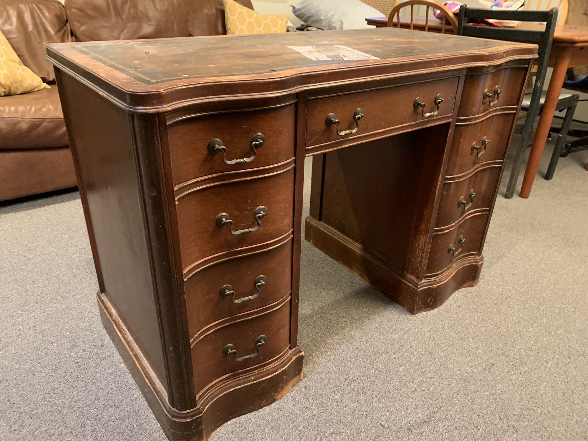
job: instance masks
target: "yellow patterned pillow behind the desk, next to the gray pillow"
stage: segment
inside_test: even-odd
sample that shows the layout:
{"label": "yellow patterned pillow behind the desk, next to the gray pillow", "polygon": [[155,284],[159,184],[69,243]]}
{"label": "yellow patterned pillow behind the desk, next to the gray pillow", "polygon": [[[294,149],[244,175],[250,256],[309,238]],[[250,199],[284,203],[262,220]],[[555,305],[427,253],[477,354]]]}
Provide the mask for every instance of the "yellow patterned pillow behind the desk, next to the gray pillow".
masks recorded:
{"label": "yellow patterned pillow behind the desk, next to the gray pillow", "polygon": [[288,15],[261,15],[233,0],[225,4],[226,35],[273,34],[286,32]]}

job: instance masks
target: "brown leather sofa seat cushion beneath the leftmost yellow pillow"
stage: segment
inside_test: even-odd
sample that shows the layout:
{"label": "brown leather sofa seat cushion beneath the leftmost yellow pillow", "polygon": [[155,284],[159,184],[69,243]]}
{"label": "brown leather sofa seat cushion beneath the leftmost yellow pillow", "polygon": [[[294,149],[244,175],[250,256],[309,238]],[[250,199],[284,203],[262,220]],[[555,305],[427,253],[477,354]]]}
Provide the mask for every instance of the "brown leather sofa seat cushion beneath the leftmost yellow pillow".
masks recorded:
{"label": "brown leather sofa seat cushion beneath the leftmost yellow pillow", "polygon": [[51,89],[0,98],[0,149],[69,145],[59,93]]}

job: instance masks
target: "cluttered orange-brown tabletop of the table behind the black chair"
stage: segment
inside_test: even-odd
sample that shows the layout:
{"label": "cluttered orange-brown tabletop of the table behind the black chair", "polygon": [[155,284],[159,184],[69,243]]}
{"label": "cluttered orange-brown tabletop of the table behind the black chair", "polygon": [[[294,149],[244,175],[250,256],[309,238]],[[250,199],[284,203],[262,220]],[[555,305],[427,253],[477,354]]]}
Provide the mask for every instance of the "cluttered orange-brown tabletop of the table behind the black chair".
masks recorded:
{"label": "cluttered orange-brown tabletop of the table behind the black chair", "polygon": [[[368,17],[366,22],[373,26],[386,26],[387,17]],[[400,22],[400,28],[407,28],[410,26],[409,22]],[[414,27],[416,29],[425,28],[425,17],[415,17]],[[532,31],[541,31],[545,28],[544,24],[541,23],[521,23],[517,26],[517,29],[528,29]],[[429,18],[429,29],[432,31],[441,30],[441,22],[436,18]],[[445,32],[450,34],[453,32],[450,26],[445,27]],[[555,28],[555,34],[553,40],[560,44],[574,44],[574,45],[588,45],[588,26],[579,25],[557,25]]]}

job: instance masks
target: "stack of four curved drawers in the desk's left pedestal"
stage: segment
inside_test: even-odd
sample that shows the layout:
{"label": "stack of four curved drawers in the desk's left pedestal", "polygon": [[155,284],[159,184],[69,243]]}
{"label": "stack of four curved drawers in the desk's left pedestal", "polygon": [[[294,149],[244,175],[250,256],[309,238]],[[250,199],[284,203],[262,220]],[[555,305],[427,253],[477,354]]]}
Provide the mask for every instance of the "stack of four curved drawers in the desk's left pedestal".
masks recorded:
{"label": "stack of four curved drawers in the desk's left pedestal", "polygon": [[289,349],[294,124],[294,104],[168,124],[197,399]]}

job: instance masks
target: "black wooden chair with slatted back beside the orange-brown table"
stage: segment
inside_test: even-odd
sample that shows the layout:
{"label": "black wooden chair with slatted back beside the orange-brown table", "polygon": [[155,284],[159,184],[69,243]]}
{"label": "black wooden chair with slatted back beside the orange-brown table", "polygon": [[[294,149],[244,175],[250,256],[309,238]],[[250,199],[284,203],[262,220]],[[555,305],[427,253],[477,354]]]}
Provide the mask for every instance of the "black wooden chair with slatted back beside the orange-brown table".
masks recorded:
{"label": "black wooden chair with slatted back beside the orange-brown table", "polygon": [[[479,25],[486,19],[515,20],[526,22],[544,22],[544,31],[530,31],[517,28],[499,28],[494,26]],[[468,8],[463,5],[459,10],[459,23],[457,35],[475,36],[479,38],[491,38],[495,40],[517,41],[523,43],[534,43],[539,45],[539,58],[537,59],[537,75],[533,86],[533,92],[523,99],[521,108],[527,112],[524,123],[517,126],[517,133],[520,133],[520,141],[516,146],[515,162],[510,172],[509,183],[506,188],[505,198],[510,199],[515,193],[516,183],[519,179],[520,168],[523,163],[524,151],[532,141],[533,123],[540,115],[545,93],[543,84],[547,73],[549,55],[553,44],[553,32],[557,24],[557,9],[549,11],[492,11],[491,9]],[[567,129],[572,123],[574,110],[578,102],[578,95],[562,93],[557,102],[557,111],[566,110],[562,129],[557,139],[556,149],[562,149],[565,143]],[[554,169],[554,167],[553,167]],[[553,170],[550,171],[553,176]],[[548,172],[549,173],[549,172]],[[547,178],[546,179],[550,179]]]}

